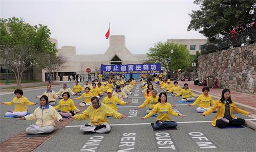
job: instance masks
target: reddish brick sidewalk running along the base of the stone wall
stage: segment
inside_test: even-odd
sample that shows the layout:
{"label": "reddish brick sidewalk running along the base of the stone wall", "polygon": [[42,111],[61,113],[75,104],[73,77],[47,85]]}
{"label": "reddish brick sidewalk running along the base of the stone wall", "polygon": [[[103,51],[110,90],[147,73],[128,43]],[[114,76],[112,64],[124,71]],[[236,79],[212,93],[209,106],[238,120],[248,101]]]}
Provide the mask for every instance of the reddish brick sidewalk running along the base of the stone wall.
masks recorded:
{"label": "reddish brick sidewalk running along the base of the stone wall", "polygon": [[[202,89],[204,86],[194,85],[194,81],[179,81],[179,85],[183,86],[184,83],[188,83],[188,88],[191,90],[195,90],[197,92],[202,93]],[[223,89],[211,89],[209,94],[211,96],[216,96],[221,98],[221,93]],[[231,92],[231,99],[234,102],[242,103],[248,106],[256,107],[256,95],[246,94],[246,93],[239,93],[236,91],[230,91]]]}

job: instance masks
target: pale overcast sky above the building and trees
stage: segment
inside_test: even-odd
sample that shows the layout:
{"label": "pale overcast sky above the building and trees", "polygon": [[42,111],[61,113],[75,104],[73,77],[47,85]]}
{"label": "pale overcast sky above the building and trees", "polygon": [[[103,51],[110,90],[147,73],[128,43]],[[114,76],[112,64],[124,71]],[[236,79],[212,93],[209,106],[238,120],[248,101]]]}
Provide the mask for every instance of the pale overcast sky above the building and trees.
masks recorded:
{"label": "pale overcast sky above the building and trees", "polygon": [[75,46],[76,54],[103,54],[109,48],[109,24],[110,35],[124,35],[133,54],[148,53],[167,39],[205,38],[187,31],[188,13],[198,9],[190,0],[0,0],[1,18],[22,17],[30,25],[47,25],[58,48]]}

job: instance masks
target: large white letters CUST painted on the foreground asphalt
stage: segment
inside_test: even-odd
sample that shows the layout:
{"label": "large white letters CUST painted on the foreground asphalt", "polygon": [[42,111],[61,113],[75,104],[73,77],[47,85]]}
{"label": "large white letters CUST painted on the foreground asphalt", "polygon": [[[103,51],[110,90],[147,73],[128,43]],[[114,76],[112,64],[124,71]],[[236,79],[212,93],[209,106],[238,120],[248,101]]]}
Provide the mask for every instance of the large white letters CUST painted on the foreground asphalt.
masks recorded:
{"label": "large white letters CUST painted on the foreground asphalt", "polygon": [[176,151],[176,147],[169,133],[156,133],[156,140],[159,151],[167,152],[167,151]]}

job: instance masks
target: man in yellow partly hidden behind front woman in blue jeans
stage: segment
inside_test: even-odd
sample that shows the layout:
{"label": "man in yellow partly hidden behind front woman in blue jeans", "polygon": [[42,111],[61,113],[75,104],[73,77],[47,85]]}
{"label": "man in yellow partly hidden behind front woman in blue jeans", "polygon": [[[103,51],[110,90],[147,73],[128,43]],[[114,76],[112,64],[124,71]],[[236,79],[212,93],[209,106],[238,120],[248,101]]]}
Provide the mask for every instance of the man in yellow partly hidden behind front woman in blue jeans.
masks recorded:
{"label": "man in yellow partly hidden behind front woman in blue jeans", "polygon": [[153,90],[152,91],[152,96],[148,97],[139,107],[137,107],[135,110],[139,110],[140,108],[145,107],[147,104],[150,104],[150,107],[148,108],[148,110],[146,110],[146,114],[149,114],[153,108],[155,107],[155,105],[158,103],[158,95],[157,95],[157,91]]}

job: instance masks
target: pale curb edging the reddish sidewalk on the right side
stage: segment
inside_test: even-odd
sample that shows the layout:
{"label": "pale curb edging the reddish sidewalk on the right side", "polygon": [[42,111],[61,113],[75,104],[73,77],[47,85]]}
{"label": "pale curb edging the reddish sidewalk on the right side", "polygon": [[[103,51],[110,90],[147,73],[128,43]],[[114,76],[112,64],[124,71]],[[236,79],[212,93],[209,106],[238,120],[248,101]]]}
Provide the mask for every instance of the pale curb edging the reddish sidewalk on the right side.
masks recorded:
{"label": "pale curb edging the reddish sidewalk on the right side", "polygon": [[[195,94],[202,94],[201,92],[197,91],[197,90],[193,90],[193,89],[190,89],[193,93]],[[214,100],[217,100],[219,99],[220,97],[217,97],[217,96],[213,96],[211,95],[212,99]],[[252,106],[249,106],[249,105],[246,105],[246,104],[243,104],[243,103],[239,103],[239,102],[236,102],[236,105],[241,108],[242,110],[245,110],[245,111],[250,111],[250,112],[253,112],[254,114],[256,113],[256,108],[255,107],[252,107]],[[254,129],[254,131],[256,131],[256,122],[253,122],[253,121],[250,121],[250,120],[246,120],[246,123],[245,123],[245,126],[249,127],[249,128],[252,128]]]}

